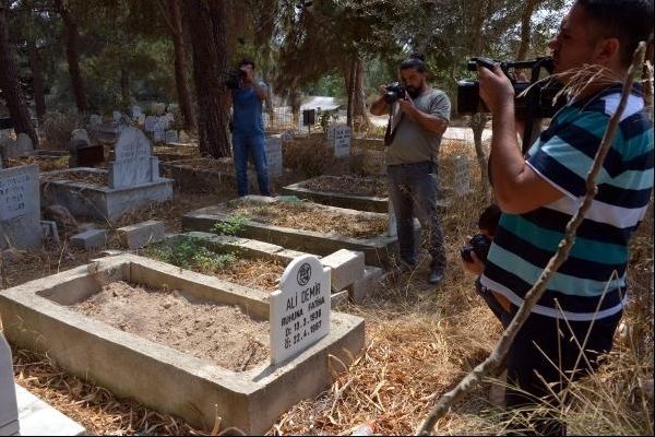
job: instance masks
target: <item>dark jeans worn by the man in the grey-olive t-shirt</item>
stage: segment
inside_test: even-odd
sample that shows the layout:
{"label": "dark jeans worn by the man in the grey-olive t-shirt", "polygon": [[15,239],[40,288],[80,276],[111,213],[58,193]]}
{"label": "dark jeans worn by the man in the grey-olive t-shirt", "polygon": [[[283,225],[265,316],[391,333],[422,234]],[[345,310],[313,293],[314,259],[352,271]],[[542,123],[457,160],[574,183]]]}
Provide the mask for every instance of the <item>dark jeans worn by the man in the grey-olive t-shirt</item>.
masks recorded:
{"label": "dark jeans worn by the man in the grey-olive t-shirt", "polygon": [[418,253],[414,241],[414,216],[427,237],[427,248],[432,257],[430,268],[441,273],[445,271],[445,249],[443,228],[437,215],[437,180],[432,177],[432,163],[390,165],[389,196],[396,216],[401,258],[416,264]]}

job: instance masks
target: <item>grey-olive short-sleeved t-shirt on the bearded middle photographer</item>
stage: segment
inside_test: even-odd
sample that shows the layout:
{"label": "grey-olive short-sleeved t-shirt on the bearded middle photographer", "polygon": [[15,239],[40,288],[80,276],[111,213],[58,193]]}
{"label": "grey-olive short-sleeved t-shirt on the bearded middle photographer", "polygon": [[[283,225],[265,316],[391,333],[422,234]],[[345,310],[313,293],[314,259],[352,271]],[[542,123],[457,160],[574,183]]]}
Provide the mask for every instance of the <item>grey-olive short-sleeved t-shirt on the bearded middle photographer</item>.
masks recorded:
{"label": "grey-olive short-sleeved t-shirt on the bearded middle photographer", "polygon": [[[400,116],[397,104],[393,105]],[[437,116],[450,121],[450,99],[441,90],[432,88],[414,99],[414,106],[422,113]],[[395,137],[386,147],[386,165],[420,163],[430,161],[437,163],[441,135],[430,133],[409,116],[403,115],[395,127]]]}

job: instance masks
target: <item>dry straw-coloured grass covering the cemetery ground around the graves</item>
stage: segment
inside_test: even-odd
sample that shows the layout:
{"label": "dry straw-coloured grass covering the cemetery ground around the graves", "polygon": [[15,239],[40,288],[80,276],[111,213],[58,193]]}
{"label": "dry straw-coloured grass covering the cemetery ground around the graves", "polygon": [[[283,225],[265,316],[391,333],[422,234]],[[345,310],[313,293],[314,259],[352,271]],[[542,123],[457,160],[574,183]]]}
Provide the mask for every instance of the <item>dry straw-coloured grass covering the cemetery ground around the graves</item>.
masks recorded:
{"label": "dry straw-coloured grass covering the cemetery ground around the graves", "polygon": [[[444,143],[439,174],[442,186],[452,186],[454,156],[462,154],[475,163],[472,144]],[[473,193],[455,199],[442,214],[449,259],[443,285],[434,288],[426,284],[429,257],[421,250],[420,263],[414,271],[400,276],[385,275],[376,292],[360,304],[341,304],[340,310],[366,320],[365,350],[352,363],[334,363],[332,386],[320,395],[303,400],[284,413],[267,434],[347,435],[365,423],[371,423],[376,434],[412,434],[439,397],[487,357],[500,336],[501,327],[476,295],[474,277],[464,272],[458,252],[460,247],[476,233],[478,213],[487,202],[480,194],[479,172],[475,165],[471,168]],[[281,186],[305,178],[305,175],[291,175],[278,182],[276,189],[278,191]],[[2,288],[85,264],[102,257],[103,250],[119,249],[120,243],[115,231],[120,226],[159,220],[165,222],[167,232],[179,233],[184,213],[234,197],[234,188],[219,187],[209,193],[182,196],[175,192],[172,201],[124,214],[111,225],[98,223],[102,227],[110,228],[107,247],[98,250],[83,251],[55,244],[47,244],[43,250],[34,252],[5,250],[0,260]],[[644,381],[647,378],[652,380],[653,376],[653,324],[650,312],[652,248],[651,211],[632,243],[629,272],[631,303],[617,334],[616,349],[593,378],[573,386],[573,402],[565,408],[570,434],[653,434],[653,398],[652,394],[648,398],[644,388]],[[139,250],[138,253],[153,256],[148,250],[152,249]],[[275,288],[276,282],[269,275],[274,271],[278,279],[279,265],[240,262],[247,268],[230,273],[217,269],[222,273],[216,274],[230,275],[234,282],[262,276],[257,287],[269,291]],[[120,299],[126,293],[124,285],[116,286],[121,288],[106,293]],[[176,296],[170,294],[166,299],[175,305]],[[151,305],[144,303],[135,306],[145,308]],[[178,320],[183,320],[184,327],[193,333],[198,315],[184,315],[178,314]],[[227,317],[234,319],[235,316]],[[200,320],[198,324],[202,322]],[[189,344],[184,344],[184,340],[174,341],[180,341],[184,347],[195,341],[189,339]],[[119,399],[93,381],[66,374],[47,354],[19,349],[12,352],[16,382],[81,423],[88,434],[217,435],[224,430],[221,412],[217,412],[214,429],[195,429],[180,418],[150,410],[129,399]],[[250,353],[234,353],[235,366],[247,367],[255,363],[262,353],[257,347],[252,356]],[[242,356],[246,358],[239,361]],[[501,433],[508,417],[500,414],[501,410],[490,401],[490,391],[489,382],[478,387],[438,422],[436,434]],[[558,405],[552,408],[559,409]]]}

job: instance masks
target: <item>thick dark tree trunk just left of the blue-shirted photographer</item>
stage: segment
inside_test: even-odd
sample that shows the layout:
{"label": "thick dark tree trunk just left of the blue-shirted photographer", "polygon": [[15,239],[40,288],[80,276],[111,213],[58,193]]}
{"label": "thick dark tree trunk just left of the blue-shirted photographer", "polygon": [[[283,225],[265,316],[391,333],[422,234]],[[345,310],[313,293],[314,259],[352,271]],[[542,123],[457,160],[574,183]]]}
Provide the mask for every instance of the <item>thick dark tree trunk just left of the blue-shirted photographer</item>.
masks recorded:
{"label": "thick dark tree trunk just left of the blue-shirted photographer", "polygon": [[216,158],[229,156],[226,109],[228,91],[221,79],[227,70],[225,3],[191,0],[184,2],[184,5],[193,46],[200,152]]}

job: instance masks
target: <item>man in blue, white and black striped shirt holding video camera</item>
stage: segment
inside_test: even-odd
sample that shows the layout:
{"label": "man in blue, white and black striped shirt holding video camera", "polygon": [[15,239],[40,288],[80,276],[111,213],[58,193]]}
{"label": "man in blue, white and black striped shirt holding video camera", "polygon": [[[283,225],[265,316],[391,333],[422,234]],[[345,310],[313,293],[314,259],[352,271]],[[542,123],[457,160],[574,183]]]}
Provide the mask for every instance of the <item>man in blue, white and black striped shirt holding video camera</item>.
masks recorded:
{"label": "man in blue, white and black striped shirt holding video camera", "polygon": [[[632,54],[653,32],[652,17],[653,0],[573,4],[550,42],[556,76],[571,84],[574,72],[588,66],[603,68],[604,74],[583,85],[558,111],[526,157],[516,139],[510,81],[498,67],[479,69],[480,97],[493,117],[493,190],[503,212],[480,282],[512,315],[582,203],[587,173],[617,109]],[[598,355],[611,349],[628,299],[628,241],[644,217],[653,186],[653,126],[639,88],[628,99],[596,184],[598,192],[569,258],[547,284],[508,355],[508,382],[524,391],[508,389],[508,406],[529,404],[550,390],[557,393],[567,380],[595,369]],[[574,369],[577,375],[572,375]],[[549,389],[544,381],[556,386]]]}

